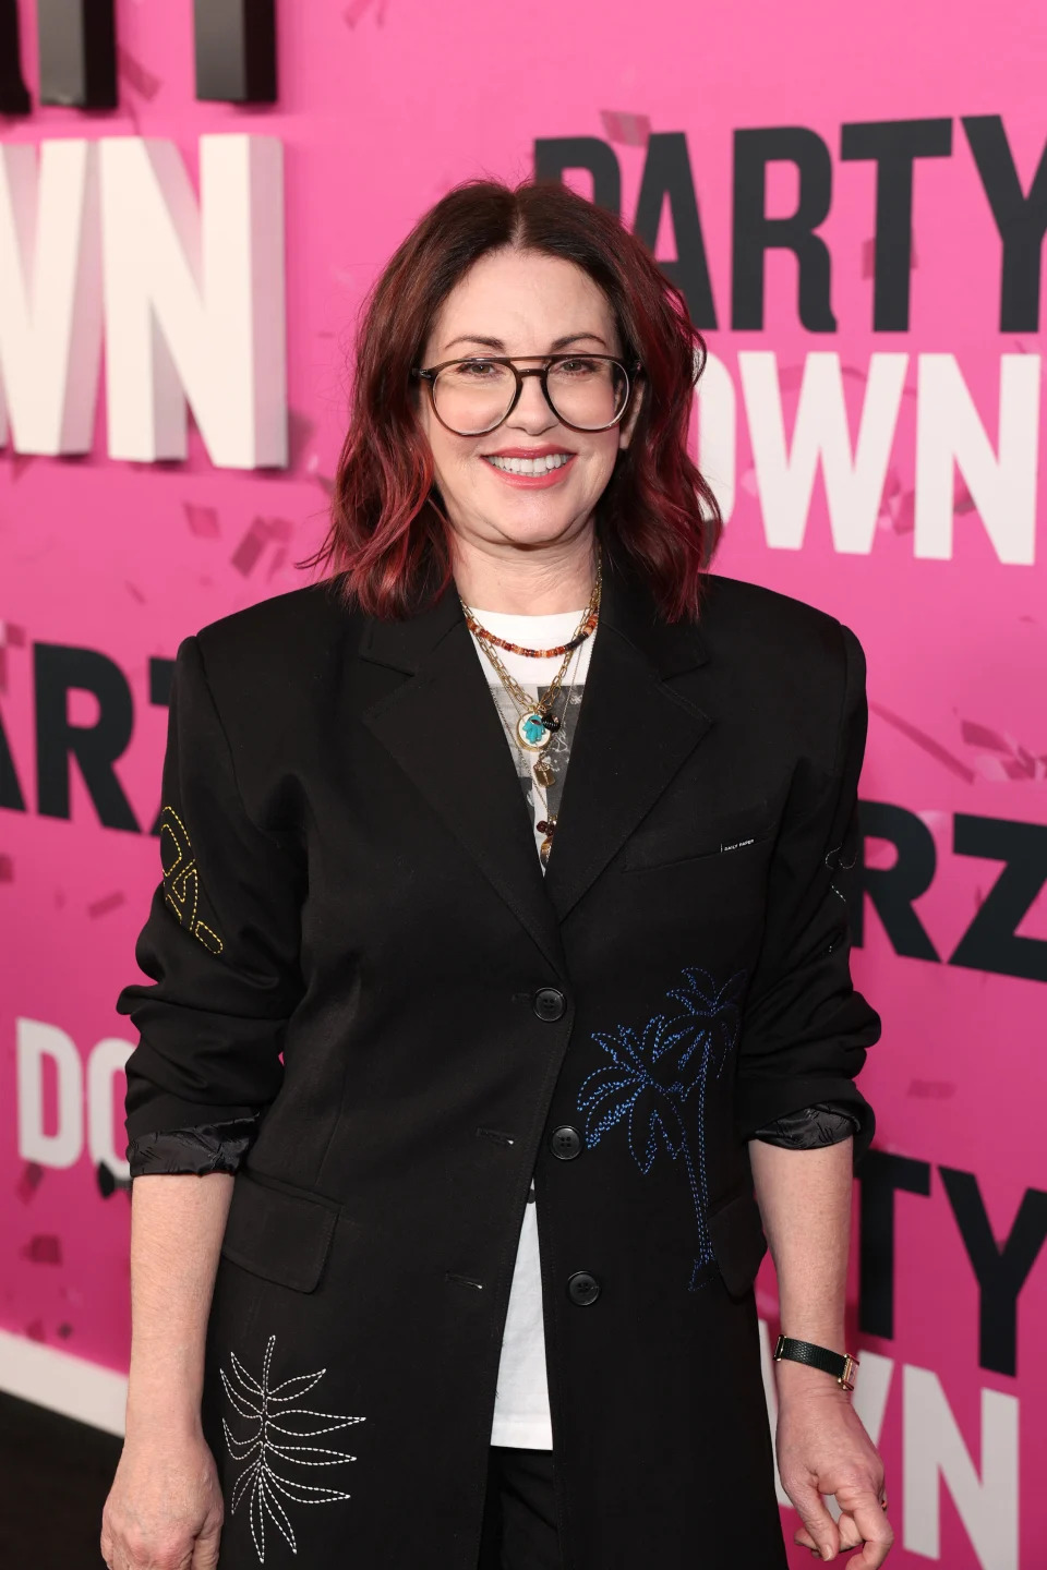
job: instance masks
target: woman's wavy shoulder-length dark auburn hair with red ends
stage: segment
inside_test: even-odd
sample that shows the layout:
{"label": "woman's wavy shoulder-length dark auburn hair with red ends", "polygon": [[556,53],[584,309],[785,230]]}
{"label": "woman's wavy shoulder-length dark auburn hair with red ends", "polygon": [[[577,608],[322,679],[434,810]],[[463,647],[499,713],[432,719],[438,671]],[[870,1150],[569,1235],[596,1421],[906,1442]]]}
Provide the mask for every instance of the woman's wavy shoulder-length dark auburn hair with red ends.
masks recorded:
{"label": "woman's wavy shoulder-length dark auburn hair with red ends", "polygon": [[636,427],[596,504],[617,570],[650,586],[667,620],[697,617],[703,570],[722,529],[716,498],[688,454],[705,341],[681,292],[612,214],[554,181],[466,181],[419,220],[370,289],[356,334],[350,422],[323,545],[300,567],[339,578],[348,604],[381,619],[418,614],[452,576],[449,524],[418,421],[418,364],[430,323],[468,268],[504,246],[575,262],[603,289],[639,361]]}

